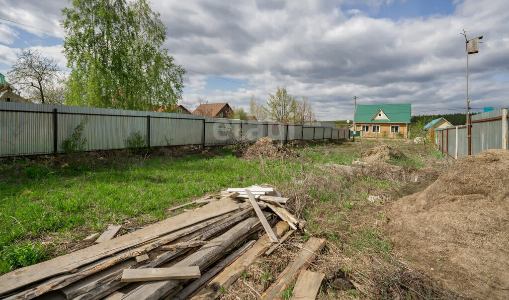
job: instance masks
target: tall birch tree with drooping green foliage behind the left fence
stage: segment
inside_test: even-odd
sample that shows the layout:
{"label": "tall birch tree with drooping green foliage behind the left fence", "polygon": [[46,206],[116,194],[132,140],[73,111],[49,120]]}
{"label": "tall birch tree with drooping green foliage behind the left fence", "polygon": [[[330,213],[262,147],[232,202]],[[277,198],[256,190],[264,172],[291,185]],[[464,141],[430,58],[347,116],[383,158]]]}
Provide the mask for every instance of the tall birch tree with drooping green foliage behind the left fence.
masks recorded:
{"label": "tall birch tree with drooping green foliage behind the left fence", "polygon": [[185,70],[162,48],[166,27],[146,0],[72,0],[62,9],[71,105],[154,110],[182,98]]}

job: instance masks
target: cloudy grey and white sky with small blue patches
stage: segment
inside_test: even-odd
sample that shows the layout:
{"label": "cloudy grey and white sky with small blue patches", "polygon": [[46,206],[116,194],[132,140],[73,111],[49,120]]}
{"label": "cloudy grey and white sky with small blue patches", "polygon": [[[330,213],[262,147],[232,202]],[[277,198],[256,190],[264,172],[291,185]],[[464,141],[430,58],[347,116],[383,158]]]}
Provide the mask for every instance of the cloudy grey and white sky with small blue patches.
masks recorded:
{"label": "cloudy grey and white sky with small blue patches", "polygon": [[[0,72],[19,48],[61,53],[67,0],[0,0]],[[188,70],[184,99],[247,108],[277,86],[307,96],[321,120],[351,119],[357,104],[412,103],[412,114],[464,112],[469,38],[470,106],[509,104],[509,1],[153,0],[164,45]],[[5,20],[6,19],[6,20]],[[30,25],[25,26],[21,24]],[[478,111],[478,110],[475,110]]]}

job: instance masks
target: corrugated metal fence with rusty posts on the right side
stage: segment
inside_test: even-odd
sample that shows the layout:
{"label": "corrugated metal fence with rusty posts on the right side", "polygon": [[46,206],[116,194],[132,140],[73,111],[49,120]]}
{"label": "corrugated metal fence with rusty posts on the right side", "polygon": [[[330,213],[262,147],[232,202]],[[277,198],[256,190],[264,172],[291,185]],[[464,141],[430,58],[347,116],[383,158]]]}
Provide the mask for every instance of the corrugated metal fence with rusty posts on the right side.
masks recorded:
{"label": "corrugated metal fence with rusty posts on the right side", "polygon": [[474,115],[469,123],[435,130],[435,143],[442,153],[458,158],[488,149],[509,149],[507,107]]}

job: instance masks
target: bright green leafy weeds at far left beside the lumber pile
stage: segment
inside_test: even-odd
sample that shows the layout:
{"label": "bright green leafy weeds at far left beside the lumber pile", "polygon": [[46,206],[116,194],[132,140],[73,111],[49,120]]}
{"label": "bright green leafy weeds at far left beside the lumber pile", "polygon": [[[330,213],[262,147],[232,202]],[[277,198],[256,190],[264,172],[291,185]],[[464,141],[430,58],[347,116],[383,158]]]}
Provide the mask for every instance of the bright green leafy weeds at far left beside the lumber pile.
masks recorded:
{"label": "bright green leafy weeds at far left beside the lumber pile", "polygon": [[41,243],[26,242],[20,246],[4,246],[0,258],[0,274],[33,265],[46,258],[47,255]]}

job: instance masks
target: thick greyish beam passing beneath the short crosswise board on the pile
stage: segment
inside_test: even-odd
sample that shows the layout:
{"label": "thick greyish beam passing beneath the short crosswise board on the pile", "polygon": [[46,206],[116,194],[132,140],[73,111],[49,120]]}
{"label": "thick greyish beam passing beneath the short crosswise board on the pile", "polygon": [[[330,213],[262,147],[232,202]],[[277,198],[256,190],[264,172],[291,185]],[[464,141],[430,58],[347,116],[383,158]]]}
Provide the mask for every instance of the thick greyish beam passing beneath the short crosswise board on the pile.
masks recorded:
{"label": "thick greyish beam passing beneath the short crosswise board on the pile", "polygon": [[[174,266],[199,266],[204,269],[216,259],[218,259],[223,251],[233,247],[237,244],[245,235],[249,233],[253,228],[257,228],[260,224],[258,218],[251,217],[241,223],[235,225],[229,231],[223,233],[219,237],[214,238],[212,241],[221,242],[218,246],[204,246],[200,250],[190,254],[186,258],[182,259]],[[130,300],[142,300],[142,299],[159,299],[174,288],[176,288],[181,281],[179,280],[161,280],[147,282],[142,286],[132,290],[126,295],[124,299]]]}

